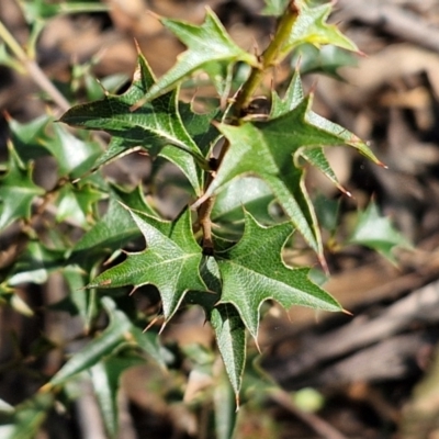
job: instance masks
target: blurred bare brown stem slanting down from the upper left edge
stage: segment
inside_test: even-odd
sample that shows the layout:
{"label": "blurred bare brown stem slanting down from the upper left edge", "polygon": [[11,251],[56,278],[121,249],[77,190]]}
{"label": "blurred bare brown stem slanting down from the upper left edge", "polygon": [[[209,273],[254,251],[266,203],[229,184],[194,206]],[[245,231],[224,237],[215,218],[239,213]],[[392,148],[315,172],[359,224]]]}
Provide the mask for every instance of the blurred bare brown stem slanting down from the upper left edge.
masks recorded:
{"label": "blurred bare brown stem slanting down from the upper left edge", "polygon": [[35,60],[25,53],[25,50],[21,47],[14,36],[8,31],[1,20],[0,38],[4,41],[5,45],[16,57],[16,59],[23,65],[29,76],[38,86],[38,88],[45,91],[63,111],[67,111],[70,108],[70,103],[52,83],[52,81],[47,78],[46,74],[41,69]]}

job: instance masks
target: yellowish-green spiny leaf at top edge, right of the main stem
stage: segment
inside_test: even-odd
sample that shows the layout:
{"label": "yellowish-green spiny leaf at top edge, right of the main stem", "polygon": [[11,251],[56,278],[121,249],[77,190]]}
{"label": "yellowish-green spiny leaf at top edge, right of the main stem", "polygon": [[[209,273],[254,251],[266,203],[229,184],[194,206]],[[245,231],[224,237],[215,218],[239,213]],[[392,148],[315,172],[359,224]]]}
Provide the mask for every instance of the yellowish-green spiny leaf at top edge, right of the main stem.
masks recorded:
{"label": "yellowish-green spiny leaf at top edge, right of the main stem", "polygon": [[294,5],[299,11],[297,19],[290,37],[282,47],[283,55],[305,43],[317,47],[333,44],[348,50],[358,52],[358,47],[335,24],[326,23],[333,9],[331,2],[312,7],[307,0],[295,0]]}

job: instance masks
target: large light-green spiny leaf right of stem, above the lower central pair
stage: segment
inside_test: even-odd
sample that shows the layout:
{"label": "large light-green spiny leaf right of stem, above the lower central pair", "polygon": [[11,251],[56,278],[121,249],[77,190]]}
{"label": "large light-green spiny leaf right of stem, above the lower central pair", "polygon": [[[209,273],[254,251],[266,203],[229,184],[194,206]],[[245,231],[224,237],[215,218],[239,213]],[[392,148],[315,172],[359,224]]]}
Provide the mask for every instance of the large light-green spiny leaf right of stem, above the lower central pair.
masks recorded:
{"label": "large light-green spiny leaf right of stem, above the lower central pair", "polygon": [[374,156],[358,137],[347,134],[341,127],[337,132],[337,125],[326,123],[326,120],[312,113],[311,98],[268,122],[218,125],[230,147],[206,194],[218,191],[238,176],[256,175],[262,178],[306,241],[322,255],[320,235],[303,181],[304,170],[297,164],[299,157],[308,147],[314,149],[342,144]]}

